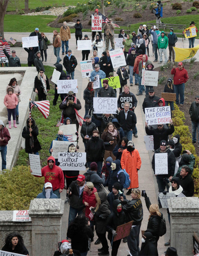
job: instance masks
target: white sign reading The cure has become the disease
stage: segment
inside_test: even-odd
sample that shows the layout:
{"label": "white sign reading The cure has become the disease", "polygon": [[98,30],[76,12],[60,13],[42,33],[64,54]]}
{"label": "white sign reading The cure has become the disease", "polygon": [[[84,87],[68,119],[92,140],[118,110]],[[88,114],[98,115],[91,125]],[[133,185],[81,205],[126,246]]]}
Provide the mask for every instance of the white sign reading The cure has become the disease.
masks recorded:
{"label": "white sign reading The cure has become the disease", "polygon": [[148,125],[168,124],[171,120],[170,106],[145,108],[145,117]]}

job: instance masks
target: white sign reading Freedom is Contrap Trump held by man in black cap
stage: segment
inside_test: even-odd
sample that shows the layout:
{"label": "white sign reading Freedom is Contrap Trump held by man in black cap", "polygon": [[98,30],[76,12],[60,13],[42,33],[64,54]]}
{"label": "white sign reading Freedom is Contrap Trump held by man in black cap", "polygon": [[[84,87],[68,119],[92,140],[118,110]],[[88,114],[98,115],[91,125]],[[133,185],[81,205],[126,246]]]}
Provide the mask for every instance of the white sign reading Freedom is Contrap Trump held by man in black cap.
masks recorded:
{"label": "white sign reading Freedom is Contrap Trump held by man in black cap", "polygon": [[155,174],[168,174],[167,153],[155,154]]}

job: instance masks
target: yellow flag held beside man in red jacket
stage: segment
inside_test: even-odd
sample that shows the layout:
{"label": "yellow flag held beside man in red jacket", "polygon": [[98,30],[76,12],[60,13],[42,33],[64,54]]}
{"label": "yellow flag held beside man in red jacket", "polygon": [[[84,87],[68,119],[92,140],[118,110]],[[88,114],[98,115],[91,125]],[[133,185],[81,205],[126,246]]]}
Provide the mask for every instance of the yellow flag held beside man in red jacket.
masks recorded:
{"label": "yellow flag held beside man in red jacket", "polygon": [[193,48],[177,48],[173,47],[175,51],[175,61],[183,61],[184,59],[191,59],[199,49],[199,45]]}

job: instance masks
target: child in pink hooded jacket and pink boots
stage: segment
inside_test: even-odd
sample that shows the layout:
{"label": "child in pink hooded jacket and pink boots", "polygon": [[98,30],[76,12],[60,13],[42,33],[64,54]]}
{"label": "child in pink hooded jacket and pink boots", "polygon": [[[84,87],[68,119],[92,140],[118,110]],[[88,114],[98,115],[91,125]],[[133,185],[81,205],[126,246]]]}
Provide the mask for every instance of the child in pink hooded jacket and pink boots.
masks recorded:
{"label": "child in pink hooded jacket and pink boots", "polygon": [[8,128],[9,129],[11,129],[11,115],[13,118],[14,128],[17,128],[15,109],[16,109],[16,106],[18,105],[18,102],[19,101],[18,101],[17,95],[14,93],[14,89],[9,87],[7,89],[7,94],[4,97],[4,105],[8,110],[8,123],[9,123]]}

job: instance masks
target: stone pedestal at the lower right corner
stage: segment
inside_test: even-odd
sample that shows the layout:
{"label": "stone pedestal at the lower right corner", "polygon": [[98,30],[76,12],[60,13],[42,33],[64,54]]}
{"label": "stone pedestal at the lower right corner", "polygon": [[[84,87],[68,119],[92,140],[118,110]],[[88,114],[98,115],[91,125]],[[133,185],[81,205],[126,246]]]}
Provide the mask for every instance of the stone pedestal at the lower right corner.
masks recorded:
{"label": "stone pedestal at the lower right corner", "polygon": [[199,198],[175,197],[168,200],[171,217],[171,246],[180,256],[192,256],[193,232],[199,235]]}

